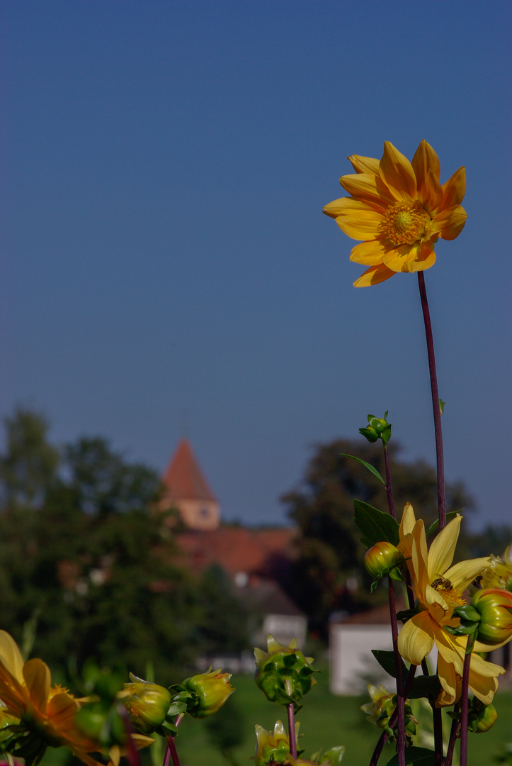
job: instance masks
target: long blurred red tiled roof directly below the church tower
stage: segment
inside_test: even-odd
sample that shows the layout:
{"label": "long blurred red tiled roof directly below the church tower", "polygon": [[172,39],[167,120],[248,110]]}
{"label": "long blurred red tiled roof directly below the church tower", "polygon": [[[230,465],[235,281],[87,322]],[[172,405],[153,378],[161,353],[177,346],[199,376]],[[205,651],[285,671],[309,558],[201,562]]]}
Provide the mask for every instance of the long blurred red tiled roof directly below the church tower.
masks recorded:
{"label": "long blurred red tiled roof directly below the church tower", "polygon": [[202,571],[220,564],[229,575],[265,576],[279,561],[294,558],[295,529],[220,527],[211,532],[183,532],[177,542],[188,565]]}

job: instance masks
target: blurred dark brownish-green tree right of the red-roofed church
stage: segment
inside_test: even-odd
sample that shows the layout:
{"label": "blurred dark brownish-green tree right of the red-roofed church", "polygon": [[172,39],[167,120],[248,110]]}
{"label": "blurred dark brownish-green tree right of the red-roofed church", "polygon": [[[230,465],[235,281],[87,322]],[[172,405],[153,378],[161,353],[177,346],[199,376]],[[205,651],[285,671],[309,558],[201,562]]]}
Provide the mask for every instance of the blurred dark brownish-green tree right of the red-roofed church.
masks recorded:
{"label": "blurred dark brownish-green tree right of the red-roofed church", "polygon": [[[426,523],[437,518],[435,470],[417,460],[399,460],[399,447],[391,443],[393,496],[398,517],[406,502]],[[362,565],[364,547],[354,525],[354,499],[387,510],[386,492],[364,466],[344,457],[359,457],[384,474],[382,449],[361,441],[336,440],[315,451],[302,485],[282,497],[289,518],[298,525],[298,560],[289,578],[289,592],[311,619],[324,630],[332,611],[358,611],[370,604],[370,578]],[[471,511],[473,502],[464,487],[446,487],[448,511]],[[378,591],[377,591],[378,599]]]}

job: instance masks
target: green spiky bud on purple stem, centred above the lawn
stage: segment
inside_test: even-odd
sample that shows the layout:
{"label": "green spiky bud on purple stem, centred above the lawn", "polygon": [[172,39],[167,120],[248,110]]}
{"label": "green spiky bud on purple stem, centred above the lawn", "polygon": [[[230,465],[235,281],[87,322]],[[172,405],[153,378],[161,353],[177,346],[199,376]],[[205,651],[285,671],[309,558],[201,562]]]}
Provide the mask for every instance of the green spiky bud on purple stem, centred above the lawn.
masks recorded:
{"label": "green spiky bud on purple stem, centred above the lawn", "polygon": [[293,702],[295,710],[298,710],[298,703],[316,683],[312,677],[315,673],[311,667],[313,658],[305,657],[297,649],[295,639],[285,647],[269,635],[267,648],[268,653],[261,649],[254,650],[256,686],[270,702],[276,702],[277,705],[289,705]]}

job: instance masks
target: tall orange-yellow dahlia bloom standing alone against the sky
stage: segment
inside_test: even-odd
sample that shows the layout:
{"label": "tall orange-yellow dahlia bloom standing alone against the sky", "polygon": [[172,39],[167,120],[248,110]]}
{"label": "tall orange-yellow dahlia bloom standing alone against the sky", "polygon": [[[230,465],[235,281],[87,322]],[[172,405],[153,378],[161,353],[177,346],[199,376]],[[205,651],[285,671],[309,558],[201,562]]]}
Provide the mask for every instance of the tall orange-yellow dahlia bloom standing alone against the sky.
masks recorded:
{"label": "tall orange-yellow dahlia bloom standing alone against the sky", "polygon": [[369,266],[355,287],[367,287],[398,271],[422,271],[435,264],[435,242],[458,237],[467,218],[461,201],[466,174],[459,168],[443,185],[441,166],[432,146],[423,140],[409,160],[389,141],[382,159],[348,157],[355,174],[340,183],[351,197],[324,207],[324,213],[349,237],[363,240],[351,260]]}

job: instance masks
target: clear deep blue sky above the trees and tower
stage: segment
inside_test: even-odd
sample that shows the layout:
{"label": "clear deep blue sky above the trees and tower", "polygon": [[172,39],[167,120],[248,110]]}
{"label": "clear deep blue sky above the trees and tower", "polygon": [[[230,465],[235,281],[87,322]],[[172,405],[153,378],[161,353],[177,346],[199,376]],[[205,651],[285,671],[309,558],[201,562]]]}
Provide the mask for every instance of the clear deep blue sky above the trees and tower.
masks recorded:
{"label": "clear deep blue sky above the trees and tower", "polygon": [[416,277],[355,290],[321,214],[347,154],[426,138],[468,172],[426,272],[446,471],[510,522],[511,11],[4,0],[1,413],[159,470],[185,431],[247,522],[369,411],[433,461]]}

